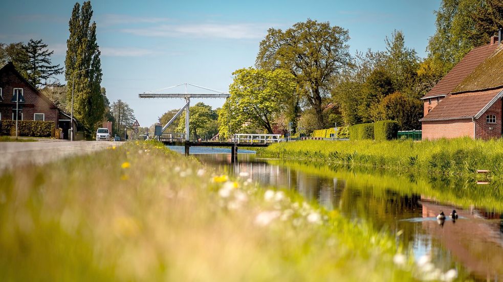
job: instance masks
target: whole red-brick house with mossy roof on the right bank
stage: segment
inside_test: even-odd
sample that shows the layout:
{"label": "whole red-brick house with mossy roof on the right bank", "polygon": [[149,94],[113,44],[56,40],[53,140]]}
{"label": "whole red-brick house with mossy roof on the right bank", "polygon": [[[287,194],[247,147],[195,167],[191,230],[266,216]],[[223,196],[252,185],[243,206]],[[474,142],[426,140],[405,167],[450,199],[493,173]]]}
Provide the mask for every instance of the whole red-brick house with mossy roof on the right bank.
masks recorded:
{"label": "whole red-brick house with mossy roof on the right bank", "polygon": [[472,49],[422,98],[423,139],[501,137],[503,45],[499,38]]}

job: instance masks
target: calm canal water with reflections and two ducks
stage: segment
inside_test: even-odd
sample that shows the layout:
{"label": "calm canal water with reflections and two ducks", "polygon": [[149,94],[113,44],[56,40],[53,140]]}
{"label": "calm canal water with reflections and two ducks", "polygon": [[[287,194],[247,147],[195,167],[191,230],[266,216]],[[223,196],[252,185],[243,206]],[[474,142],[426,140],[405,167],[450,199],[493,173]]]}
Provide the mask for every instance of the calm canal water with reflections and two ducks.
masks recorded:
{"label": "calm canal water with reflections and two ducks", "polygon": [[[181,148],[171,147],[182,152]],[[455,268],[462,279],[503,280],[501,212],[434,202],[419,194],[396,192],[406,190],[397,187],[375,189],[373,182],[381,179],[378,173],[337,169],[343,171],[333,174],[344,177],[323,177],[317,173],[317,167],[300,169],[288,162],[257,159],[254,154],[239,154],[238,162],[231,164],[230,154],[225,154],[230,153],[229,149],[194,149],[191,148],[194,156],[221,172],[248,172],[254,181],[296,190],[327,209],[339,210],[349,219],[365,220],[377,230],[400,234],[397,243],[412,249],[416,257],[430,255],[437,267],[444,271]],[[250,151],[239,151],[245,152]],[[406,188],[412,181],[402,180],[389,185]],[[456,209],[460,219],[447,219],[440,225],[435,216],[440,210],[448,216],[452,209]]]}

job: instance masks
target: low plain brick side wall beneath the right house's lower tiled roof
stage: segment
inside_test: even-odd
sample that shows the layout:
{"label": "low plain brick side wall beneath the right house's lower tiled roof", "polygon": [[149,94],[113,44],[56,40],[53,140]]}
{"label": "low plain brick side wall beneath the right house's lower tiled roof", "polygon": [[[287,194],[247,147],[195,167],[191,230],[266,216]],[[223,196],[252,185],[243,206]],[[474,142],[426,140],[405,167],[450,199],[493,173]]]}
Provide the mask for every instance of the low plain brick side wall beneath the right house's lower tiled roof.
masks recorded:
{"label": "low plain brick side wall beneath the right house's lower tiled roof", "polygon": [[429,121],[422,123],[423,140],[440,138],[456,138],[469,136],[473,138],[473,123],[471,119],[451,121]]}

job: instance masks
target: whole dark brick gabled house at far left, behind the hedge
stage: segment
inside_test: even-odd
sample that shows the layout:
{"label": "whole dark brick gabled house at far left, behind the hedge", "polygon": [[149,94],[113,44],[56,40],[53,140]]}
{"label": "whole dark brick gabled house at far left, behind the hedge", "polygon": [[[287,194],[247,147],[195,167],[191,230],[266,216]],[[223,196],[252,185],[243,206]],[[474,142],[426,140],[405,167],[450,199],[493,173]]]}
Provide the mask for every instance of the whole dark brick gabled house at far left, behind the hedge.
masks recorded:
{"label": "whole dark brick gabled house at far left, behind the hedge", "polygon": [[[56,128],[63,129],[62,138],[69,138],[70,115],[40,93],[9,62],[0,69],[0,121],[16,120],[17,96],[18,121],[51,121]],[[74,119],[74,128],[76,125]]]}

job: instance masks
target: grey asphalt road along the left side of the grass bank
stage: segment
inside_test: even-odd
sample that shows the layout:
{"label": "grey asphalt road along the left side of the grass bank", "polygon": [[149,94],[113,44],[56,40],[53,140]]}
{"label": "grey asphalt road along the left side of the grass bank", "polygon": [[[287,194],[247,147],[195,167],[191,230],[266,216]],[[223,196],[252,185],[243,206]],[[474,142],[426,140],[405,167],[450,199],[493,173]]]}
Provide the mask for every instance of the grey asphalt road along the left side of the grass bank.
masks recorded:
{"label": "grey asphalt road along the left side of the grass bank", "polygon": [[39,139],[38,142],[0,142],[0,174],[5,169],[33,163],[41,165],[60,158],[89,154],[121,142]]}

